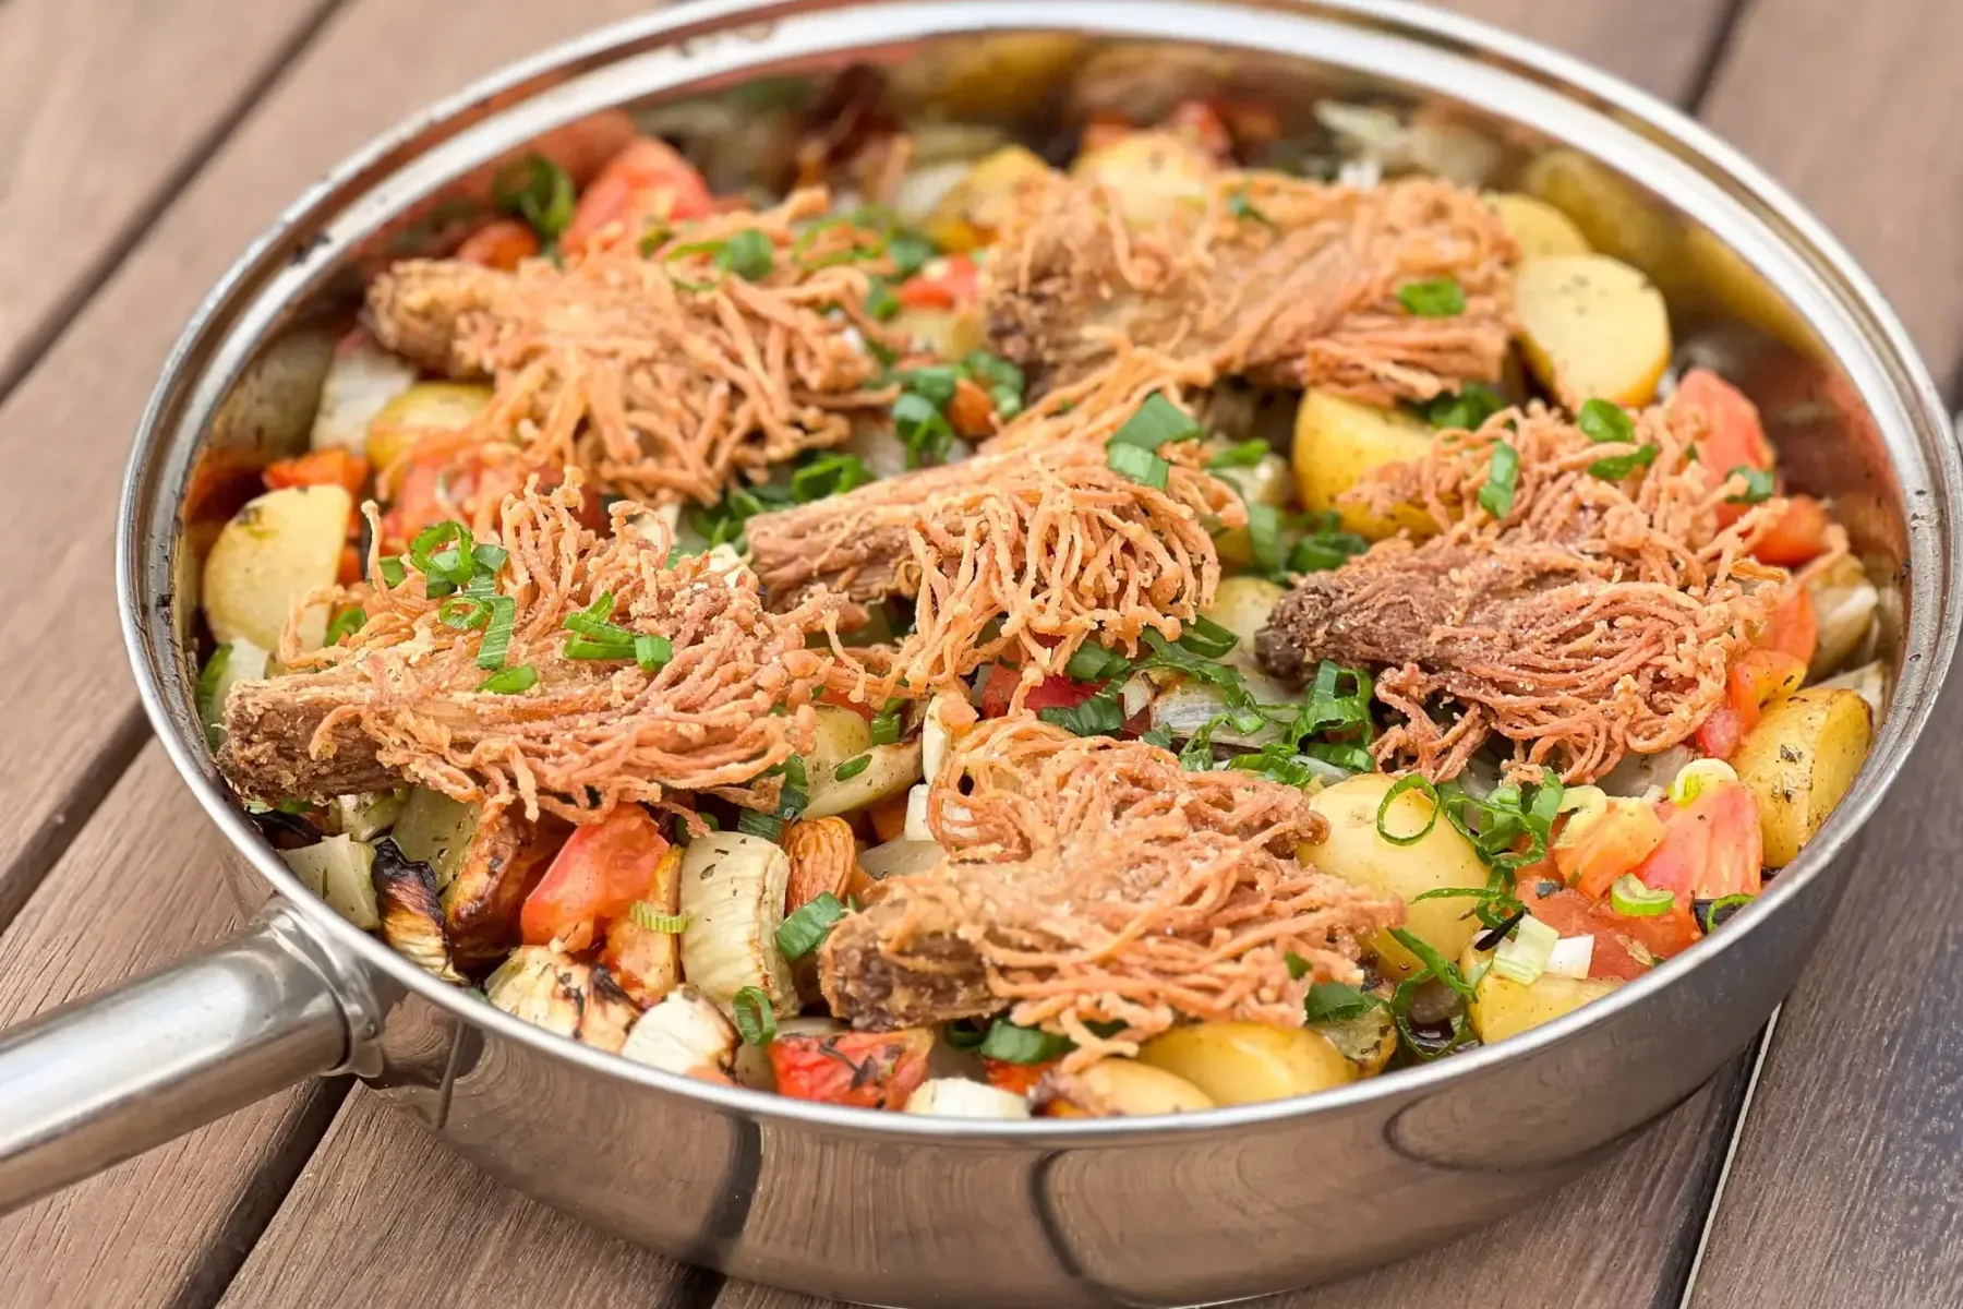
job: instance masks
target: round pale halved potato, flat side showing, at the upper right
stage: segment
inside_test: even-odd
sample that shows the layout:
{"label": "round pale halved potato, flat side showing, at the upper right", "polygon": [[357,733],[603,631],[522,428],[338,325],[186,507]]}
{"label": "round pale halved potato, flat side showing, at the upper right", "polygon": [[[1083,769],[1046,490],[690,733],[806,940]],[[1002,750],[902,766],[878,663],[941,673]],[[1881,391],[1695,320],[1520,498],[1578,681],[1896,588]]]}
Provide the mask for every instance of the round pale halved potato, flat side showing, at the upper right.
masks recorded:
{"label": "round pale halved potato, flat side showing, at the upper right", "polygon": [[1671,314],[1647,277],[1608,255],[1541,255],[1513,277],[1521,349],[1568,408],[1639,406],[1671,363]]}

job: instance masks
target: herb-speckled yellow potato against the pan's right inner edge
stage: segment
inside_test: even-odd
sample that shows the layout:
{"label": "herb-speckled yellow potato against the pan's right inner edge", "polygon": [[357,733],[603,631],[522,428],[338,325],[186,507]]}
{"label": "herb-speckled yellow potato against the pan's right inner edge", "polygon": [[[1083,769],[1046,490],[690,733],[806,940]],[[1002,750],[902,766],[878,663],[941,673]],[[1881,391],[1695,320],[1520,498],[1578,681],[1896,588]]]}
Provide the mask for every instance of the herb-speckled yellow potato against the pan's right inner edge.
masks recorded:
{"label": "herb-speckled yellow potato against the pan's right inner edge", "polygon": [[1812,687],[1765,708],[1731,767],[1759,803],[1765,865],[1784,867],[1847,795],[1873,740],[1857,691]]}

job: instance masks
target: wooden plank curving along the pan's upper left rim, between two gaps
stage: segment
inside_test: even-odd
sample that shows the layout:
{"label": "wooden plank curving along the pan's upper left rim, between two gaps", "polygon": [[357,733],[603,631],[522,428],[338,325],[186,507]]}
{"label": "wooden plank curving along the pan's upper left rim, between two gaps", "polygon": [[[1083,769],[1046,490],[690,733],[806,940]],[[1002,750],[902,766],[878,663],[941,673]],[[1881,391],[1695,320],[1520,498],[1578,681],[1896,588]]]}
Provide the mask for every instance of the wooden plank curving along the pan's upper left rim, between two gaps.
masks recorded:
{"label": "wooden plank curving along the pan's upper left rim, between two gaps", "polygon": [[[0,791],[12,801],[0,824],[0,922],[141,740],[104,546],[130,432],[185,316],[289,200],[367,137],[501,63],[644,8],[344,8],[0,404],[0,487],[33,489],[20,512],[0,516],[0,557],[12,563],[0,575],[0,722],[10,728]],[[55,612],[61,657],[47,646]]]}

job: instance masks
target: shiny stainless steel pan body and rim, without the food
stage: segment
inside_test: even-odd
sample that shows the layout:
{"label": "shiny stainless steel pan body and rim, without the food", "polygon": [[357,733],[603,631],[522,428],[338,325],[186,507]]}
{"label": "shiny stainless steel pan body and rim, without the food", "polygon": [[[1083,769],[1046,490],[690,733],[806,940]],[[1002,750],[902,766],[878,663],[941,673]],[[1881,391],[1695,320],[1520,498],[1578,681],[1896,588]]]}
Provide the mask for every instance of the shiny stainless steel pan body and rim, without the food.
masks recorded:
{"label": "shiny stainless steel pan body and rim, without the food", "polygon": [[[1386,100],[1478,137],[1513,175],[1570,151],[1592,194],[1616,198],[1627,222],[1614,253],[1669,290],[1686,353],[1729,363],[1794,479],[1831,491],[1871,573],[1900,583],[1883,636],[1892,707],[1861,779],[1724,932],[1502,1046],[1305,1101],[1168,1121],[950,1123],[691,1083],[530,1028],[310,901],[228,805],[190,708],[196,553],[212,514],[230,510],[222,489],[249,485],[253,463],[296,430],[294,396],[306,396],[322,332],[361,267],[446,188],[610,106],[858,59],[934,96],[938,65],[925,61],[1029,29],[1089,41],[1074,69],[1054,73],[1074,79],[1066,102],[1195,84],[1258,86],[1298,108],[1327,94]],[[357,1022],[351,1062],[471,1160],[632,1240],[821,1295],[1170,1305],[1301,1285],[1492,1221],[1602,1158],[1749,1040],[1839,895],[1835,852],[1902,767],[1947,671],[1959,506],[1963,475],[1934,387],[1845,253],[1700,128],[1565,57],[1366,0],[720,0],[520,65],[304,196],[173,353],[132,459],[118,567],[145,707],[249,862],[249,893],[294,901],[318,946],[371,981],[385,1022],[375,1034]],[[39,1028],[41,1048],[55,1026]],[[98,1040],[116,1040],[106,1026]],[[49,1070],[47,1083],[100,1079],[104,1113],[139,1103],[112,1085],[124,1062],[77,1044],[65,1050],[86,1070]],[[190,1072],[216,1093],[218,1073]],[[236,1075],[243,1097],[265,1089],[253,1077],[269,1066]],[[118,1130],[133,1140],[135,1128]],[[53,1170],[43,1185],[73,1172]]]}

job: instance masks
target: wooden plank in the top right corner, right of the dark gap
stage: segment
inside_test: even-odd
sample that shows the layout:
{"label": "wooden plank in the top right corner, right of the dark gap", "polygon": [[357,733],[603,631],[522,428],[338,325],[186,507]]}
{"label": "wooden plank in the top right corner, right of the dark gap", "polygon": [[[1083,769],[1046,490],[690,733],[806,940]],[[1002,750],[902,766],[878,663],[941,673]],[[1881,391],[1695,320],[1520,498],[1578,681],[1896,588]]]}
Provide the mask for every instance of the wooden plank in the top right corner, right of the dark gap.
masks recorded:
{"label": "wooden plank in the top right corner, right of the dark gap", "polygon": [[1847,243],[1939,379],[1963,357],[1963,4],[1757,0],[1704,120]]}

